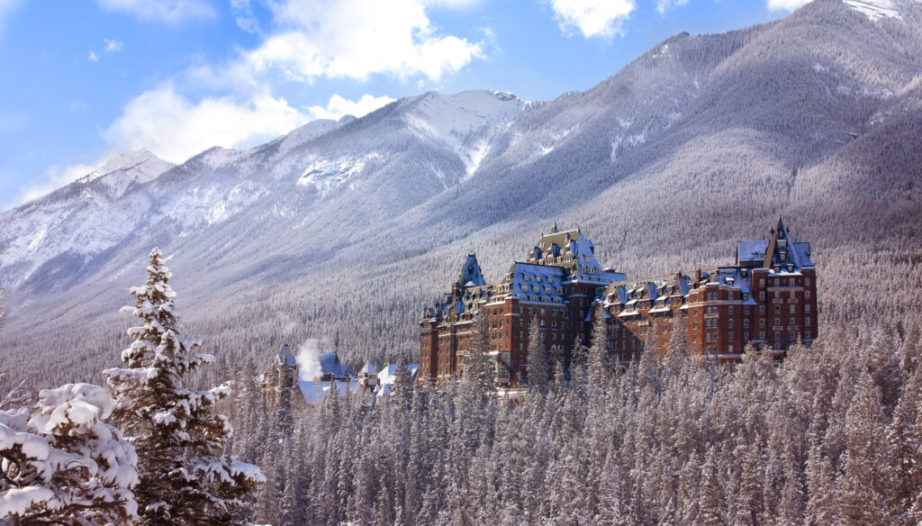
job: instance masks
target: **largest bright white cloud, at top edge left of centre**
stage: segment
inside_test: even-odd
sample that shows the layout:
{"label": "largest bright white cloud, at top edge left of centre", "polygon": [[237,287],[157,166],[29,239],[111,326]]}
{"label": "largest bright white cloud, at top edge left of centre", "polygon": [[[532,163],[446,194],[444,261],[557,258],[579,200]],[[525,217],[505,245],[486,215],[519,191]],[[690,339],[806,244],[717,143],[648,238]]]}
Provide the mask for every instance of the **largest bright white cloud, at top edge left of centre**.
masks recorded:
{"label": "largest bright white cloud, at top edge left of centre", "polygon": [[[443,0],[454,6],[469,0]],[[623,1],[623,0],[621,0]],[[426,14],[430,0],[287,0],[273,6],[285,29],[245,53],[253,72],[278,69],[285,78],[439,80],[483,57],[480,42],[443,35]]]}

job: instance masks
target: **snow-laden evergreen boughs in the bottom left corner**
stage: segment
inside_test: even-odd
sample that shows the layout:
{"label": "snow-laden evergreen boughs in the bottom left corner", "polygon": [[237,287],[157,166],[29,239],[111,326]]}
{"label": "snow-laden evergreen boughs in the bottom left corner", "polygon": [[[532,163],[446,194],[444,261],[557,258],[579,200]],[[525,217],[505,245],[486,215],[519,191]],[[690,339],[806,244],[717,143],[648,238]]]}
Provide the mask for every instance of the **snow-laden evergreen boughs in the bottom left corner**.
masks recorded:
{"label": "snow-laden evergreen boughs in the bottom left corner", "polygon": [[44,389],[31,407],[0,412],[0,523],[127,525],[137,519],[131,488],[136,455],[105,423],[106,389]]}

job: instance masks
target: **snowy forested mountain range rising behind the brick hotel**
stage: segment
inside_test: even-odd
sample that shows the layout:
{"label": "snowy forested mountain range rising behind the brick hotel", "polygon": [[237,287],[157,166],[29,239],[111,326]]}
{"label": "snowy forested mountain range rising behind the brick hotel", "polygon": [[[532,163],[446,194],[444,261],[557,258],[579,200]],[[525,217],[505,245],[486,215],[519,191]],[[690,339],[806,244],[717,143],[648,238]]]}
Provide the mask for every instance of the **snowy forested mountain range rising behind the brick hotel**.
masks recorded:
{"label": "snowy forested mountain range rising behind the brick hotel", "polygon": [[337,331],[346,359],[393,361],[459,257],[489,281],[552,221],[629,275],[726,263],[778,215],[821,263],[922,241],[920,28],[914,0],[815,0],[551,102],[431,92],[169,169],[129,154],[0,216],[0,354],[110,327],[154,245],[203,336],[246,325],[233,353]]}

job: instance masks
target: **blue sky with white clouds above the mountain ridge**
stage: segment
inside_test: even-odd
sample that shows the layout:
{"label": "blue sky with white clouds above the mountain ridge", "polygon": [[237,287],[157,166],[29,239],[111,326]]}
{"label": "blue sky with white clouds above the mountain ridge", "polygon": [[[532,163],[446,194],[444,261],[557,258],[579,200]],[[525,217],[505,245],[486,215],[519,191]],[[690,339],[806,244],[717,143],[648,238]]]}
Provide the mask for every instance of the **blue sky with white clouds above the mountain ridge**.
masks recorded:
{"label": "blue sky with white clouds above the mountain ridge", "polygon": [[430,90],[550,101],[808,0],[0,0],[0,210]]}

